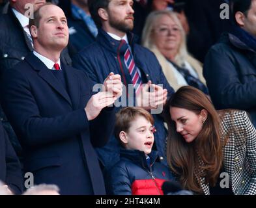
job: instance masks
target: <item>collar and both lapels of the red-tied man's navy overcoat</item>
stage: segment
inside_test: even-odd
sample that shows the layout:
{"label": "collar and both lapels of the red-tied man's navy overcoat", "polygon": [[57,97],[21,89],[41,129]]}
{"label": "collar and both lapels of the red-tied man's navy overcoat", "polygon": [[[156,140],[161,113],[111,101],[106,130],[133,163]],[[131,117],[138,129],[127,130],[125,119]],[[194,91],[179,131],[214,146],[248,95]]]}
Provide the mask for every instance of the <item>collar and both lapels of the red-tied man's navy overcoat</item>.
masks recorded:
{"label": "collar and both lapels of the red-tied man's navy overcoat", "polygon": [[[33,53],[29,53],[27,57],[25,57],[25,61],[38,72],[38,75],[44,79],[54,90],[56,90],[61,96],[70,104],[73,109],[76,109],[79,104],[79,82],[78,77],[74,73],[71,73],[70,67],[66,66],[63,62],[61,62],[61,66],[66,78],[68,90],[70,96],[68,96],[68,92],[64,88],[63,84],[56,79],[53,73],[43,64],[43,62],[38,59]],[[70,100],[71,98],[71,100]]]}

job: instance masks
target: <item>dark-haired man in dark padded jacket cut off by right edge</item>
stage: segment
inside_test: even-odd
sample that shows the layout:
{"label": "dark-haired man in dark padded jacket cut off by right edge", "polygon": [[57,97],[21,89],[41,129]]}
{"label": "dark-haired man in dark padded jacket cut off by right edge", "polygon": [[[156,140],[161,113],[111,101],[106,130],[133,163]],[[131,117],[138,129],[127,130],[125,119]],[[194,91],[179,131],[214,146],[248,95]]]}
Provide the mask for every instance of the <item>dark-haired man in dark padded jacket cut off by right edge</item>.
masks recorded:
{"label": "dark-haired man in dark padded jacket cut off by right edge", "polygon": [[217,109],[247,110],[256,127],[256,0],[236,0],[234,27],[208,52],[203,74]]}

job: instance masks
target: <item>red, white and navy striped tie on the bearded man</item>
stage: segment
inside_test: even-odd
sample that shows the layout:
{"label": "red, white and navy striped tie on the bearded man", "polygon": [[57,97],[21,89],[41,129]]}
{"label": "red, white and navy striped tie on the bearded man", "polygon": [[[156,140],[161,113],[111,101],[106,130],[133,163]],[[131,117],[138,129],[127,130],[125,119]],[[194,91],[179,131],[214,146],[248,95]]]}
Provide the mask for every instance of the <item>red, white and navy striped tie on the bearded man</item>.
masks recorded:
{"label": "red, white and navy striped tie on the bearded man", "polygon": [[142,79],[141,73],[139,72],[139,68],[135,66],[134,57],[132,57],[132,53],[130,52],[129,46],[125,40],[121,40],[122,44],[124,45],[126,51],[124,53],[124,62],[128,71],[132,78],[132,84],[134,85],[135,94],[137,94],[142,87]]}

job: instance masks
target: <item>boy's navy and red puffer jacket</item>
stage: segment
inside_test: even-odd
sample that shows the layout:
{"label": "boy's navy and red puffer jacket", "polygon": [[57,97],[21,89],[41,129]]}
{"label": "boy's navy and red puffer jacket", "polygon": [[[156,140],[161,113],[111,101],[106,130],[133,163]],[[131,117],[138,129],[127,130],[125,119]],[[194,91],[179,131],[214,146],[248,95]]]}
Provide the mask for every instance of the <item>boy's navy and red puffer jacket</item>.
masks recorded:
{"label": "boy's navy and red puffer jacket", "polygon": [[150,165],[143,151],[121,149],[120,156],[120,161],[107,173],[107,194],[162,195],[164,181],[173,179],[169,169],[156,162],[158,151],[149,154]]}

